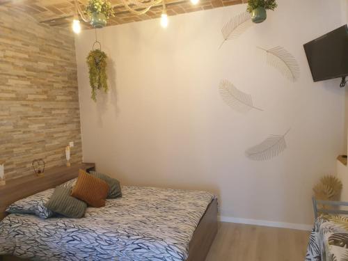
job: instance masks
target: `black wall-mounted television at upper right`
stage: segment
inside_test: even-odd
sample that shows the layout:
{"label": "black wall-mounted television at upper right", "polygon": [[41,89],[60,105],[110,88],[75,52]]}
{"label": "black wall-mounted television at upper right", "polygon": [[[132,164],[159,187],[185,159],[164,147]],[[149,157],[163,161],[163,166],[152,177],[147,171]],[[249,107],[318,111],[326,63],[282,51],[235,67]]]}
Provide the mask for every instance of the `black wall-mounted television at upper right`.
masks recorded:
{"label": "black wall-mounted television at upper right", "polygon": [[314,81],[348,75],[348,27],[341,26],[304,45]]}

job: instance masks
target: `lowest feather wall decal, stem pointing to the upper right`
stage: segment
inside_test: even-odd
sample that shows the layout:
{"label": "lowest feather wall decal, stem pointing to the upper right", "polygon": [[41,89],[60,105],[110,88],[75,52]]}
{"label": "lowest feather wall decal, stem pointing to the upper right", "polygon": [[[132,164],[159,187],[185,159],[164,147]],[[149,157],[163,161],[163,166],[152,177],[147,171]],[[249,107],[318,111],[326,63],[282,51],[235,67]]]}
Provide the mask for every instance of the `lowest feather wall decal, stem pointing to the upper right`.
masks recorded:
{"label": "lowest feather wall decal, stem pointing to the upper right", "polygon": [[255,161],[266,161],[280,155],[286,149],[285,136],[288,132],[290,129],[283,136],[270,135],[262,143],[246,150],[246,157]]}

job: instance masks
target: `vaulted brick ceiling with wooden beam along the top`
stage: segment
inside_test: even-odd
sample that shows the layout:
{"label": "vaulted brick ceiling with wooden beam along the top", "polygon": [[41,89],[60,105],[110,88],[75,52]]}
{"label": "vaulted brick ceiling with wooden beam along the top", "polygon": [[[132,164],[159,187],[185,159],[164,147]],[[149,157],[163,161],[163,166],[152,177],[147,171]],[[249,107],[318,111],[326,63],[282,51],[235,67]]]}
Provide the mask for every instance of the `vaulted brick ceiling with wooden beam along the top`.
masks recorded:
{"label": "vaulted brick ceiling with wooden beam along the top", "polygon": [[[81,7],[84,8],[88,0],[79,0]],[[165,0],[168,15],[179,15],[200,10],[232,6],[239,3],[246,3],[248,0],[200,0],[193,6],[190,0]],[[147,19],[161,17],[162,6],[153,6],[145,15],[134,15],[129,13],[122,5],[122,0],[111,0],[114,6],[115,17],[111,17],[108,26],[116,24],[127,24],[139,22]],[[14,6],[33,16],[40,23],[50,26],[68,26],[74,16],[73,0],[0,0],[0,6]],[[89,24],[84,23],[84,28],[90,28]]]}

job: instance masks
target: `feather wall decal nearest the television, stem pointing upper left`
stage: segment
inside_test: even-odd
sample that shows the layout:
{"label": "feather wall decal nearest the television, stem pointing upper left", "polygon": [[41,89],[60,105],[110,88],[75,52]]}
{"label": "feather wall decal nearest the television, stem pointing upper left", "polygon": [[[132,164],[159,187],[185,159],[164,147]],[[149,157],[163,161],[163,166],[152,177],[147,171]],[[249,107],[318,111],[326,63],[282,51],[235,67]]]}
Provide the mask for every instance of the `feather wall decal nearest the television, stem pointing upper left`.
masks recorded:
{"label": "feather wall decal nearest the television, stem pointing upper left", "polygon": [[261,47],[258,48],[266,52],[267,63],[278,69],[285,78],[290,81],[296,81],[299,79],[299,63],[297,63],[296,59],[292,54],[290,54],[290,52],[287,52],[286,49],[280,46],[268,50]]}

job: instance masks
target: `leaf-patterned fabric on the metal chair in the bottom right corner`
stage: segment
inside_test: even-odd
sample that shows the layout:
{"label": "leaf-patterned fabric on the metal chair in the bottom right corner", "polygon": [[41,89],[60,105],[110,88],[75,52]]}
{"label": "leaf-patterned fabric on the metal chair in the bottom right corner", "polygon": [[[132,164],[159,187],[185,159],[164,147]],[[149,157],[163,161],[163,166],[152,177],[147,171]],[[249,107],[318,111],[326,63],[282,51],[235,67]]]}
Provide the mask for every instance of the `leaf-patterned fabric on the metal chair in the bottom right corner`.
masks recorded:
{"label": "leaf-patterned fabric on the metal chair in the bottom right corner", "polygon": [[306,261],[348,261],[348,218],[320,216],[310,234]]}

